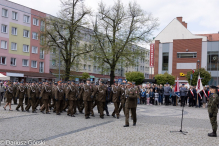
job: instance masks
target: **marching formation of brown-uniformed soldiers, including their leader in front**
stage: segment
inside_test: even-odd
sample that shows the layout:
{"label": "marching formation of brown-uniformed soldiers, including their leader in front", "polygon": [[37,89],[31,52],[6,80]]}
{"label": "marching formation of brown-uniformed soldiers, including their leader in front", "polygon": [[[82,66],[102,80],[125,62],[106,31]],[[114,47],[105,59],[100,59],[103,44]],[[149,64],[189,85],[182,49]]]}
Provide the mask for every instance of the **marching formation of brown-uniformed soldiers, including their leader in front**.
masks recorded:
{"label": "marching formation of brown-uniformed soldiers, including their leader in front", "polygon": [[[75,117],[78,113],[84,114],[85,119],[90,116],[95,117],[93,109],[97,106],[101,119],[104,119],[104,111],[109,115],[107,104],[114,103],[112,117],[119,119],[120,112],[126,116],[124,127],[129,126],[129,111],[133,119],[133,126],[136,125],[137,98],[139,89],[133,83],[108,86],[102,81],[94,84],[90,79],[84,83],[75,81],[52,83],[44,82],[8,82],[6,89],[7,104],[11,109],[11,102],[17,105],[16,110],[22,112],[36,113],[39,109],[43,114],[50,114],[52,111],[56,115],[66,112],[66,115]],[[24,107],[25,106],[25,107]],[[84,111],[84,112],[83,112]]]}

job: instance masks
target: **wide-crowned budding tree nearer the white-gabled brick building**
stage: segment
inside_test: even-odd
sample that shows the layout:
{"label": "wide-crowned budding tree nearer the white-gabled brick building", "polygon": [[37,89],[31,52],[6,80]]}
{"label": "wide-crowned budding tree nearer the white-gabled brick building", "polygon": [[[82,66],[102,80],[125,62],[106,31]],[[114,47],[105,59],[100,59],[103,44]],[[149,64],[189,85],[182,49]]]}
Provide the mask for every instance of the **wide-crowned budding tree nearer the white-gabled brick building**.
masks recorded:
{"label": "wide-crowned budding tree nearer the white-gabled brick building", "polygon": [[158,25],[158,19],[135,2],[125,6],[118,0],[112,7],[99,4],[97,20],[93,23],[95,56],[102,60],[98,61],[100,66],[110,68],[110,84],[113,84],[118,62],[134,66],[136,58],[143,57],[137,45],[149,43]]}

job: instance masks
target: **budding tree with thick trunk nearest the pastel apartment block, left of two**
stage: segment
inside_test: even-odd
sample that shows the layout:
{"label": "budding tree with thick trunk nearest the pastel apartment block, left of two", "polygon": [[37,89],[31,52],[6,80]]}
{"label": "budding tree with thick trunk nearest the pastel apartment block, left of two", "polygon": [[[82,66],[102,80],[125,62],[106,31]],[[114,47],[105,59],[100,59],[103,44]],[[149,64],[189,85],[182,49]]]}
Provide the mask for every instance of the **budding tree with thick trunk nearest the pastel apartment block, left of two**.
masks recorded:
{"label": "budding tree with thick trunk nearest the pastel apartment block, left of two", "polygon": [[[71,67],[79,63],[82,54],[92,52],[79,45],[83,36],[82,30],[87,30],[87,17],[91,10],[84,5],[84,0],[61,0],[61,10],[57,17],[45,19],[46,29],[41,32],[41,45],[44,50],[59,48],[61,60],[64,61],[65,80],[69,79]],[[58,40],[63,42],[58,43]]]}

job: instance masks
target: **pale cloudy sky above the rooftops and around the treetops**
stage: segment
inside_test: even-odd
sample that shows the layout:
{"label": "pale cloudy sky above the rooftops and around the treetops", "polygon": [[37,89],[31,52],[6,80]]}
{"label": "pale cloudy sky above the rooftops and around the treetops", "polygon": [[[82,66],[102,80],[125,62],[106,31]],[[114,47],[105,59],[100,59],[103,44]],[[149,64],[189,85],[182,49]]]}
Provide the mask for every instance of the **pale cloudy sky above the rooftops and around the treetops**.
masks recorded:
{"label": "pale cloudy sky above the rooftops and around the treetops", "polygon": [[[0,0],[1,1],[1,0]],[[57,16],[60,0],[9,0],[15,3]],[[112,5],[116,0],[102,0]],[[128,4],[134,0],[121,0]],[[85,0],[85,5],[95,13],[101,0]],[[193,34],[219,32],[219,0],[135,0],[141,8],[159,19],[159,28],[154,31],[156,37],[174,18],[183,17],[187,28]]]}

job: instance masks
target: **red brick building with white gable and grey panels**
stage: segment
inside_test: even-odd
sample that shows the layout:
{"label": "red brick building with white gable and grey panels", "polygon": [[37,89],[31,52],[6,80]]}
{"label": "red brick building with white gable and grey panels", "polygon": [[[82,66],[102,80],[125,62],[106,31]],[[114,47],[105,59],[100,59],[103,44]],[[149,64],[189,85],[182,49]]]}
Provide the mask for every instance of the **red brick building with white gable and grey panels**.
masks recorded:
{"label": "red brick building with white gable and grey panels", "polygon": [[185,74],[199,67],[211,73],[209,84],[219,84],[219,34],[192,34],[182,17],[177,17],[152,43],[154,75],[167,72],[186,83]]}

